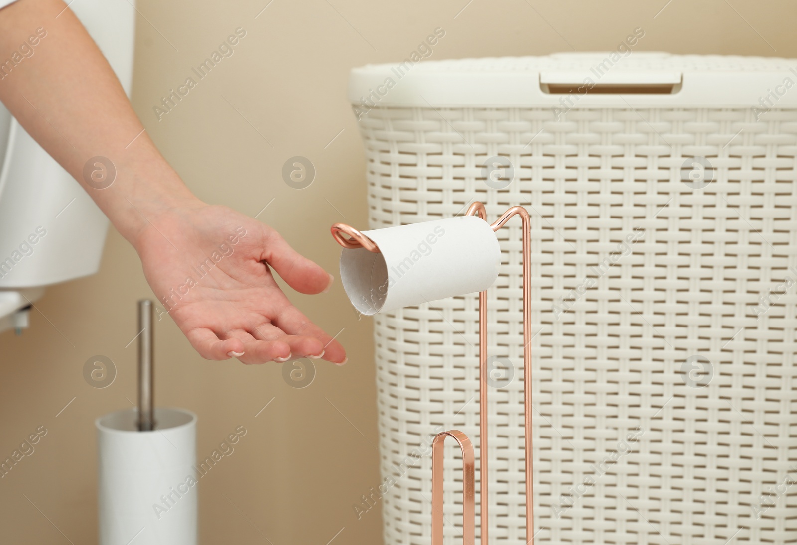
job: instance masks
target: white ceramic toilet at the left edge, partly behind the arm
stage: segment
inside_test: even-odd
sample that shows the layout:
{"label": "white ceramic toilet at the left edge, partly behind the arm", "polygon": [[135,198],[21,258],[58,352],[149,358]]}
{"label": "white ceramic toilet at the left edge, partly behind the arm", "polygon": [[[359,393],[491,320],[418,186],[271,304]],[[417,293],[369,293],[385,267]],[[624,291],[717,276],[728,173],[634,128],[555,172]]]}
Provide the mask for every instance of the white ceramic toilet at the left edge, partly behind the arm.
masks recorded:
{"label": "white ceramic toilet at the left edge, partly behind the arm", "polygon": [[[78,0],[70,9],[108,58],[129,96],[135,7],[128,2]],[[41,296],[41,287],[96,273],[108,220],[2,104],[0,165],[2,320]],[[8,326],[0,321],[0,331]]]}

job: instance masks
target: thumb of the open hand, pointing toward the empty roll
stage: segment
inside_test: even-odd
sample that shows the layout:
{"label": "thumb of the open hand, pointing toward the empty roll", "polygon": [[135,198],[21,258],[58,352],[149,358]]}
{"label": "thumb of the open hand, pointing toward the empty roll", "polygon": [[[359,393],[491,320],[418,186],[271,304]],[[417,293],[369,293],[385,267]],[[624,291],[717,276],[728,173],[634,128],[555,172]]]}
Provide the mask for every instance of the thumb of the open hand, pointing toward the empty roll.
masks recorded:
{"label": "thumb of the open hand, pointing toward the empty roll", "polygon": [[266,228],[265,243],[265,261],[297,292],[320,293],[332,285],[331,274],[292,249],[276,230]]}

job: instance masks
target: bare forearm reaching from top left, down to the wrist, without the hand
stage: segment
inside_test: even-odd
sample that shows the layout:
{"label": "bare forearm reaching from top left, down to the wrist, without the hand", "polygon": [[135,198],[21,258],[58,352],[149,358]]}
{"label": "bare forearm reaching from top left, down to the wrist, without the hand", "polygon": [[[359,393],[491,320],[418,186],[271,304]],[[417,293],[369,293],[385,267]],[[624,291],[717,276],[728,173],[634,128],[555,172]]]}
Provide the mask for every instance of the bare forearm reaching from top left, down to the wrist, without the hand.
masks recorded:
{"label": "bare forearm reaching from top left, down to the wrist, without the hand", "polygon": [[[135,245],[151,219],[194,197],[147,136],[100,49],[65,7],[61,0],[21,0],[0,10],[0,62],[12,61],[0,69],[0,100]],[[86,168],[98,156],[116,169],[105,189],[84,175],[96,171],[101,181],[102,165]]]}

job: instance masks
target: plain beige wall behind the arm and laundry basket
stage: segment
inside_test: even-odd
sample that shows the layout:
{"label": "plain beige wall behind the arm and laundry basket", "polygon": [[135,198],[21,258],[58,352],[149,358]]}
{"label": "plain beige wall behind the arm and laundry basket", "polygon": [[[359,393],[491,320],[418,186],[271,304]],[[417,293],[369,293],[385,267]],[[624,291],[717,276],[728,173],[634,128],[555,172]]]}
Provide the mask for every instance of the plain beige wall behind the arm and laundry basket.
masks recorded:
{"label": "plain beige wall behind the arm and laundry basket", "polygon": [[[638,49],[797,57],[792,2],[673,0],[654,19],[665,1],[473,0],[457,15],[466,0],[274,0],[255,19],[269,0],[139,0],[133,103],[196,194],[249,215],[274,198],[259,219],[335,273],[329,225],[367,224],[363,152],[346,100],[351,67],[400,60],[438,26],[446,37],[434,59],[614,49],[638,26],[646,31]],[[234,55],[158,121],[153,105],[239,26],[247,34]],[[308,189],[281,179],[293,155],[315,163]],[[37,426],[49,430],[0,479],[3,543],[96,542],[93,420],[135,399],[135,343],[125,345],[135,301],[151,296],[135,252],[111,231],[99,274],[50,288],[24,335],[0,335],[0,457]],[[238,425],[248,430],[202,479],[202,543],[268,543],[265,535],[274,545],[324,545],[342,527],[334,543],[381,543],[379,511],[356,520],[352,510],[379,483],[371,323],[357,320],[340,284],[290,296],[333,335],[345,328],[349,352],[344,368],[318,365],[304,390],[286,385],[277,364],[206,362],[171,320],[157,324],[157,398],[198,414],[198,456]],[[98,354],[118,368],[104,390],[81,374]]]}

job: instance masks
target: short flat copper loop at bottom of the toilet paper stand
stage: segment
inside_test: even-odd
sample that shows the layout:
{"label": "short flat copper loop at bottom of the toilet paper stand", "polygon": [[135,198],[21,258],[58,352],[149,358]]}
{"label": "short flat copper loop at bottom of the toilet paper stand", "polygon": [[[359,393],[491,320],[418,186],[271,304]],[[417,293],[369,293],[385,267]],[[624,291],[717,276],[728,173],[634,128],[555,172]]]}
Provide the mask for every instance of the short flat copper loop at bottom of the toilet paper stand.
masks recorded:
{"label": "short flat copper loop at bottom of the toilet paper stand", "polygon": [[473,444],[465,433],[450,429],[432,441],[432,545],[443,543],[443,445],[453,437],[462,451],[462,543],[476,543],[476,483]]}

